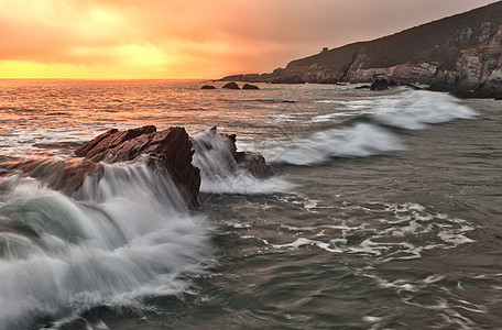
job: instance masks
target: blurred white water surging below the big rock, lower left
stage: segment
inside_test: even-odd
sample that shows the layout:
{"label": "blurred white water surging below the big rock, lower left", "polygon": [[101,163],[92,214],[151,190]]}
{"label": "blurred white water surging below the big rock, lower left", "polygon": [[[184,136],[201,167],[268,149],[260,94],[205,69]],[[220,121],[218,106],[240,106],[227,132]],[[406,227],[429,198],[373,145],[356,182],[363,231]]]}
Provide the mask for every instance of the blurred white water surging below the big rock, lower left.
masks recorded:
{"label": "blurred white water surging below the big rock, lower left", "polygon": [[32,179],[4,178],[2,188],[10,196],[0,223],[11,230],[0,232],[1,329],[178,295],[210,262],[206,218],[189,215],[172,182],[144,166],[105,166],[79,201]]}

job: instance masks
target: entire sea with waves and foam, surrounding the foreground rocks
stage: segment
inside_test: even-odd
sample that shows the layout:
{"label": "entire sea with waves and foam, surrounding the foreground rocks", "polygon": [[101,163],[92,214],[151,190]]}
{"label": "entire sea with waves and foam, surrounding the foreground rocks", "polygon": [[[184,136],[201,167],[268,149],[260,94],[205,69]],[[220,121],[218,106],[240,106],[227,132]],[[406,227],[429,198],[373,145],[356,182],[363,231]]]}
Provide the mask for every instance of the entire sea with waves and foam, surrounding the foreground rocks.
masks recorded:
{"label": "entire sea with waves and foam, surrounding the foreground rocks", "polygon": [[[206,84],[0,80],[0,329],[502,328],[500,101]],[[6,170],[146,124],[217,125],[275,174],[196,154],[188,209],[138,164],[70,197]]]}

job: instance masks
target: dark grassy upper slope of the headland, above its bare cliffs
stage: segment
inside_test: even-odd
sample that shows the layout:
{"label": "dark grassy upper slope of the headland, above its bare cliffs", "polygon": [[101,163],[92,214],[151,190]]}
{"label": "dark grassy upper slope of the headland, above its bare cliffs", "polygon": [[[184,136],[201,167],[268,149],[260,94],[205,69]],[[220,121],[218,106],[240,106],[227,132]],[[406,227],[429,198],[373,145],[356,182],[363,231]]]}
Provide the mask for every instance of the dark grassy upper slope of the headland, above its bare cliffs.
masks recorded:
{"label": "dark grassy upper slope of the headland, above its bare cliffs", "polygon": [[[487,22],[491,25],[487,25]],[[459,51],[483,44],[483,41],[488,41],[488,37],[483,38],[483,33],[490,31],[493,34],[493,28],[500,24],[502,1],[370,42],[350,44],[296,59],[286,69],[317,64],[343,70],[353,63],[354,55],[364,56],[362,68],[391,67],[424,59],[451,66]]]}

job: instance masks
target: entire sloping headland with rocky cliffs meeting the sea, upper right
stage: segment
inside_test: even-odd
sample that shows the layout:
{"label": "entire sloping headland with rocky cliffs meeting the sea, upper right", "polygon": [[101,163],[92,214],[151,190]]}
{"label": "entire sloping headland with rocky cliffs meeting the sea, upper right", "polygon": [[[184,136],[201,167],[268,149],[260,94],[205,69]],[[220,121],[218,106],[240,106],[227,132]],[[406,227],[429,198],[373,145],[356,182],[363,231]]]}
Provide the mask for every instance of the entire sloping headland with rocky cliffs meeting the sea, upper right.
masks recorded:
{"label": "entire sloping headland with rocky cliffs meeting the sea, upper right", "polygon": [[502,1],[403,32],[327,50],[271,74],[225,81],[426,84],[467,97],[502,96]]}

